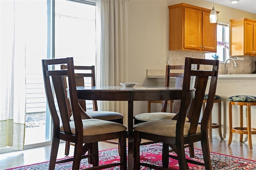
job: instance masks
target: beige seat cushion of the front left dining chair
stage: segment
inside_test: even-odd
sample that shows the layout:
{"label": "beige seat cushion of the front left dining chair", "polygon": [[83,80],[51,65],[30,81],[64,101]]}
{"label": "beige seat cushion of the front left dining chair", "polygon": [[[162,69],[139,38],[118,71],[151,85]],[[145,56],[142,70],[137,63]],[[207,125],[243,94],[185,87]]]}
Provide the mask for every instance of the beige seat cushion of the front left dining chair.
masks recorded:
{"label": "beige seat cushion of the front left dining chair", "polygon": [[[127,128],[119,123],[104,121],[100,119],[83,119],[84,136],[97,134],[106,134],[112,132],[121,132]],[[70,129],[72,134],[76,134],[75,122],[70,121]],[[60,126],[60,131],[64,131],[63,126]]]}

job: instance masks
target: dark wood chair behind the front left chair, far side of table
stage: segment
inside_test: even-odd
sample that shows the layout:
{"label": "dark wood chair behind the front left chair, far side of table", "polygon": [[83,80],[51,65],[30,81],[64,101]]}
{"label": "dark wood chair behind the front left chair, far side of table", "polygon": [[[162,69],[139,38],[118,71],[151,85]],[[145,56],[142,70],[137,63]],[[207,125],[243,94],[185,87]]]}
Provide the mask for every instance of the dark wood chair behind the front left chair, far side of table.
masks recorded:
{"label": "dark wood chair behind the front left chair, far side of table", "polygon": [[[67,65],[60,65],[60,69],[67,69]],[[74,66],[74,72],[75,72],[75,79],[76,79],[76,86],[95,86],[95,67],[92,66]],[[68,103],[69,99],[67,98]],[[87,111],[86,110],[86,101],[85,100],[79,100],[79,103],[81,107],[86,111],[87,115],[90,116],[92,119],[101,119],[105,121],[111,121],[123,124],[124,116],[121,113],[117,113],[114,111],[98,111],[98,105],[97,101],[92,101],[93,105],[93,111]],[[69,105],[69,116],[70,120],[73,121],[72,116],[72,110]],[[117,142],[107,140],[105,142],[112,143],[112,144],[118,144]],[[70,150],[70,142],[66,142],[65,147],[65,155],[69,154]]]}

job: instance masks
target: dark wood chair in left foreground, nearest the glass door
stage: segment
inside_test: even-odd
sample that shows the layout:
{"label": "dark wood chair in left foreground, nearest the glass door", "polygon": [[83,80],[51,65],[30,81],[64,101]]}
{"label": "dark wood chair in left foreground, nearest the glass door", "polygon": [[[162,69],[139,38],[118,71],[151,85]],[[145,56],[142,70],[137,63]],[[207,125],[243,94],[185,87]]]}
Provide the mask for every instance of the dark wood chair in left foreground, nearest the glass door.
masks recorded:
{"label": "dark wood chair in left foreground, nearest the glass door", "polygon": [[[66,64],[67,69],[54,69],[60,64]],[[50,155],[49,170],[54,170],[55,164],[73,161],[72,170],[78,170],[80,161],[90,158],[92,170],[120,166],[121,170],[127,169],[126,160],[126,127],[120,123],[91,119],[89,115],[80,107],[76,92],[76,81],[74,73],[73,58],[65,59],[44,59],[42,60],[44,85],[46,99],[50,109],[53,122],[52,149]],[[68,79],[66,79],[68,77]],[[69,103],[65,81],[68,81],[70,104],[74,121],[70,121]],[[52,81],[52,83],[51,83]],[[57,106],[54,102],[57,99]],[[113,164],[98,165],[98,142],[118,138],[120,162]],[[60,140],[74,143],[74,157],[56,161]],[[92,148],[92,153],[86,152]]]}

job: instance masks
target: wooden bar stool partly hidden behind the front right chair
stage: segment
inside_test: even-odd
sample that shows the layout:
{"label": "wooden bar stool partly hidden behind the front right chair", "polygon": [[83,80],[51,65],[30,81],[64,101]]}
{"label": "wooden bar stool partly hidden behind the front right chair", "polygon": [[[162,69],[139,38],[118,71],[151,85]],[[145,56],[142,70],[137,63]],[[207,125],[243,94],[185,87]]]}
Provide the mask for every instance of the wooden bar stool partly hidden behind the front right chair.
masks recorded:
{"label": "wooden bar stool partly hidden behind the front right chair", "polygon": [[[204,113],[204,109],[205,109],[205,103],[207,103],[207,99],[208,99],[208,94],[205,94],[203,106],[202,106],[203,113]],[[211,112],[209,125],[208,125],[208,133],[209,133],[210,142],[212,142],[212,129],[213,128],[218,128],[220,139],[223,139],[222,132],[221,132],[221,100],[220,100],[220,96],[215,95],[214,103],[218,103],[218,123],[212,123],[212,112]]]}

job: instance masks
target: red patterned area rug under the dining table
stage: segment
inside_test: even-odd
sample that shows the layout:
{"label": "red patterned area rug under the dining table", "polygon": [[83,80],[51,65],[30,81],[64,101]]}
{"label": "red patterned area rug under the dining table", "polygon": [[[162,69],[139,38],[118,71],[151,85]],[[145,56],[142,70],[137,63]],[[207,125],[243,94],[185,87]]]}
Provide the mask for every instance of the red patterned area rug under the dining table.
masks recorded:
{"label": "red patterned area rug under the dining table", "polygon": [[[162,165],[161,154],[162,144],[150,144],[140,146],[141,150],[141,162],[149,162],[151,164]],[[202,151],[195,149],[195,158],[193,160],[199,160],[203,162]],[[172,153],[174,154],[174,153]],[[189,151],[186,149],[186,155],[189,158]],[[236,158],[232,156],[217,154],[211,152],[211,161],[213,170],[256,170],[256,161],[246,160],[242,158]],[[110,162],[119,162],[118,150],[110,149],[100,152],[100,164],[106,164]],[[8,170],[48,170],[49,162],[42,162],[38,164],[32,164],[28,166],[22,166],[18,168],[12,168]],[[91,165],[88,164],[87,159],[83,159],[80,164],[80,169],[88,168]],[[204,166],[189,164],[190,170],[204,170]],[[178,170],[179,165],[177,160],[169,159],[169,168]],[[110,170],[119,170],[119,167],[110,168]],[[72,162],[66,162],[57,164],[55,170],[72,170]],[[151,170],[150,168],[142,167],[141,170]]]}

